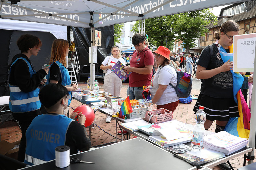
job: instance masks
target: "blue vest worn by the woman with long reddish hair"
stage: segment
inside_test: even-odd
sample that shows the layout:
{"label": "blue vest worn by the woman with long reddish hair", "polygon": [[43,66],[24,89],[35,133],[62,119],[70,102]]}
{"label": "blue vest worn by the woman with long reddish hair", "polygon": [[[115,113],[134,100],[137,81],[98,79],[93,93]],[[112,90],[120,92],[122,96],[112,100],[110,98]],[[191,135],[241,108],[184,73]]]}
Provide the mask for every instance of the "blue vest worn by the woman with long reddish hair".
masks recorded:
{"label": "blue vest worn by the woman with long reddish hair", "polygon": [[[68,70],[66,69],[66,67],[64,67],[63,64],[61,64],[59,61],[56,61],[56,62],[53,62],[53,63],[56,63],[59,66],[60,73],[61,73],[61,80],[62,80],[61,84],[63,86],[66,86],[66,87],[71,87],[71,80],[70,80],[70,76],[69,76],[69,73],[68,73]],[[50,64],[50,67],[52,66],[52,64]],[[51,72],[50,72],[50,69],[49,69],[48,74],[46,76],[47,82],[45,83],[45,85],[49,84],[50,75],[51,75]],[[70,103],[71,103],[71,99],[72,99],[72,91],[68,92],[68,97],[67,98],[68,98],[68,106],[69,106]]]}

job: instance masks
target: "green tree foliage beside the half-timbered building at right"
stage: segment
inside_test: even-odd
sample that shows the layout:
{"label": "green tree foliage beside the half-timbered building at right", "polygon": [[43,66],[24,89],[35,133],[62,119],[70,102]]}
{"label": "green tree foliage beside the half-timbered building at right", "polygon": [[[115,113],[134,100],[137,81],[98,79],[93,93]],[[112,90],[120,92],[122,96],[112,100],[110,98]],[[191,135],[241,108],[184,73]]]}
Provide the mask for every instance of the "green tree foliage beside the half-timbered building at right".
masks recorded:
{"label": "green tree foliage beside the half-timbered building at right", "polygon": [[[211,9],[191,11],[181,14],[175,14],[175,17],[170,17],[173,22],[173,32],[177,35],[177,40],[183,41],[187,54],[189,49],[195,47],[194,40],[210,32],[205,26],[212,22],[217,22],[216,16],[211,13]],[[173,20],[175,18],[175,20]]]}

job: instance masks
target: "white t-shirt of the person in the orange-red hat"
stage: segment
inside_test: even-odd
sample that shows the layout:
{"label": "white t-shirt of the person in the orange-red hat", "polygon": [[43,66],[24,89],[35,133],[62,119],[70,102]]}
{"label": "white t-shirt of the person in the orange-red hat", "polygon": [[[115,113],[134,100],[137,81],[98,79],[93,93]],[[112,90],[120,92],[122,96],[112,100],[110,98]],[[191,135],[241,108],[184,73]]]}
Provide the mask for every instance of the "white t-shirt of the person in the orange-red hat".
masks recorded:
{"label": "white t-shirt of the person in the orange-red hat", "polygon": [[151,80],[151,88],[149,89],[151,98],[154,98],[159,84],[168,86],[155,104],[162,105],[176,102],[179,100],[179,97],[176,95],[175,89],[172,88],[169,83],[171,83],[174,87],[176,87],[177,85],[177,73],[174,68],[168,65],[158,68]]}

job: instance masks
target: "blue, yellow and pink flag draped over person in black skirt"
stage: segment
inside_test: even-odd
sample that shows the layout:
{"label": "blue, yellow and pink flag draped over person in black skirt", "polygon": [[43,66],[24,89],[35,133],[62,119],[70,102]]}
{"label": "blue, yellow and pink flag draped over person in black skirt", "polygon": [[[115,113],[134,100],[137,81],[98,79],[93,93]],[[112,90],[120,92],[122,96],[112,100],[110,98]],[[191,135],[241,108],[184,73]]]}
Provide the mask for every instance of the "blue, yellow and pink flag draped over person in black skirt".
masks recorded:
{"label": "blue, yellow and pink flag draped over person in black skirt", "polygon": [[[223,62],[225,63],[230,59],[233,61],[233,46],[230,46],[229,52],[227,53],[223,47],[218,47],[219,53]],[[234,73],[231,70],[233,75],[233,92],[234,92],[234,100],[238,105],[239,117],[237,118],[230,118],[228,124],[225,127],[225,131],[228,133],[242,137],[242,138],[249,138],[250,133],[250,117],[251,112],[250,109],[244,100],[243,94],[240,90],[242,87],[244,78],[239,73]]]}

